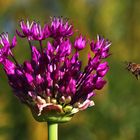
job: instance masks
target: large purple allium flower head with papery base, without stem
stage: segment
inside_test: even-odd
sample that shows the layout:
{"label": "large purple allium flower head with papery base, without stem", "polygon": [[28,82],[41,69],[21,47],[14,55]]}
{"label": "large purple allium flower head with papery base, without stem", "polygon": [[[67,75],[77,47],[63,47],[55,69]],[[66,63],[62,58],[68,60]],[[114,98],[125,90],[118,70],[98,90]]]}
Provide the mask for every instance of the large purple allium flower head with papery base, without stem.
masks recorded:
{"label": "large purple allium flower head with papery base, without stem", "polygon": [[[106,83],[103,77],[109,66],[103,60],[109,56],[111,43],[100,36],[89,41],[81,34],[72,42],[73,25],[63,18],[53,17],[44,27],[22,20],[20,28],[17,35],[27,38],[31,60],[19,64],[12,53],[16,36],[9,41],[8,34],[2,33],[0,63],[15,95],[30,107],[35,119],[66,121],[76,112],[93,106],[91,97]],[[39,48],[32,41],[38,41]],[[82,71],[79,51],[86,46],[94,55],[87,55],[88,64]]]}

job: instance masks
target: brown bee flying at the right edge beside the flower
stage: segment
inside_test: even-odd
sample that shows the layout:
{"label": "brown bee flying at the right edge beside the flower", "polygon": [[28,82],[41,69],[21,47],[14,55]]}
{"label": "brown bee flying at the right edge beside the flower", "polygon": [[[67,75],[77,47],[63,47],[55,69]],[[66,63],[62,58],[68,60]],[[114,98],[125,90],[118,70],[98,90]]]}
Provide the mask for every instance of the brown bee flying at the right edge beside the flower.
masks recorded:
{"label": "brown bee flying at the right edge beside the flower", "polygon": [[140,64],[126,62],[126,65],[126,69],[129,70],[133,75],[135,75],[136,79],[138,80],[140,76]]}

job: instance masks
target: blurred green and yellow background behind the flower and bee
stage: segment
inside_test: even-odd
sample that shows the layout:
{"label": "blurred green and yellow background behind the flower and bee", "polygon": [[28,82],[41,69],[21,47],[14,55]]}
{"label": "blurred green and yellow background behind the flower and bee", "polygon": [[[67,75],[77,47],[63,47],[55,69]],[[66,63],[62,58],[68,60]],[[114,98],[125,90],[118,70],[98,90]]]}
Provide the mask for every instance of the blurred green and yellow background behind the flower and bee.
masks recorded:
{"label": "blurred green and yellow background behind the flower and bee", "polygon": [[[63,16],[87,37],[101,34],[112,41],[108,84],[94,98],[94,107],[59,126],[60,140],[140,139],[140,81],[124,64],[140,63],[139,7],[139,0],[0,0],[0,32],[11,37],[22,18],[43,24],[50,16]],[[28,47],[25,40],[19,41],[15,54],[22,62],[29,57]],[[47,140],[47,125],[36,122],[13,96],[2,70],[0,140]]]}

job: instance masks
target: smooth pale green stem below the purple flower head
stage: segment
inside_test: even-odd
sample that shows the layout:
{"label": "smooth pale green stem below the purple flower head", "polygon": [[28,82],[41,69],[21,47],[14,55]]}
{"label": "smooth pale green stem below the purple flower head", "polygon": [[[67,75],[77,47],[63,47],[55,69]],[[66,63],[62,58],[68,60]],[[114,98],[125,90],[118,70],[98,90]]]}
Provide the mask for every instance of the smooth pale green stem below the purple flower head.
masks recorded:
{"label": "smooth pale green stem below the purple flower head", "polygon": [[58,140],[58,124],[48,122],[48,140]]}

